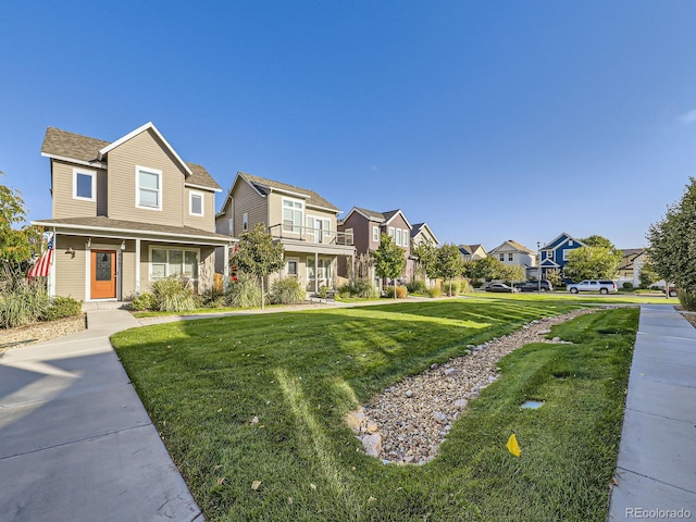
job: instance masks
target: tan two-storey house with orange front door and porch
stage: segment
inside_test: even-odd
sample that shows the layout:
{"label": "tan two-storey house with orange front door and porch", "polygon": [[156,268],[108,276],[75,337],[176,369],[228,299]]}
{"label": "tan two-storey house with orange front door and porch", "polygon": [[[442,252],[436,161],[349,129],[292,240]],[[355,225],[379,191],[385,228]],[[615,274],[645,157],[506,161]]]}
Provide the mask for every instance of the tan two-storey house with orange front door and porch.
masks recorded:
{"label": "tan two-storey house with orange front door and porch", "polygon": [[115,141],[48,127],[54,234],[49,293],[85,301],[127,300],[162,277],[185,276],[198,290],[214,276],[220,186],[187,163],[152,123]]}

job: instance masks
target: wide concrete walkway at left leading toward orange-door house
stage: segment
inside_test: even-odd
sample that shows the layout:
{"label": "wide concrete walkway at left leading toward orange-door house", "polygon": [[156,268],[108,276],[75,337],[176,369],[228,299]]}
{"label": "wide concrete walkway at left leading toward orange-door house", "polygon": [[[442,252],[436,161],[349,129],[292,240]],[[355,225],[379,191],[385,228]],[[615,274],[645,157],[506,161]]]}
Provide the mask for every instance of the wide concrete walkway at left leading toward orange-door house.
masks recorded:
{"label": "wide concrete walkway at left leading toward orange-door house", "polygon": [[0,359],[0,519],[202,521],[109,341],[139,323],[88,325]]}

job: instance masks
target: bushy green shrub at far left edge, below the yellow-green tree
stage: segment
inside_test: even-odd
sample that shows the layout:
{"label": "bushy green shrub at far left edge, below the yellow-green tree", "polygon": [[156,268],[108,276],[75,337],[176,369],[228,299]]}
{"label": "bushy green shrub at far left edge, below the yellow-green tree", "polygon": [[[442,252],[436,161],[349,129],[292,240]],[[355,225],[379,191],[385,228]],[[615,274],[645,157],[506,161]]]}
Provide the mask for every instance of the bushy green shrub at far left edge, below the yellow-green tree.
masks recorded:
{"label": "bushy green shrub at far left edge, below the yellow-green tree", "polygon": [[0,327],[14,328],[40,321],[50,306],[42,277],[10,276],[0,288]]}

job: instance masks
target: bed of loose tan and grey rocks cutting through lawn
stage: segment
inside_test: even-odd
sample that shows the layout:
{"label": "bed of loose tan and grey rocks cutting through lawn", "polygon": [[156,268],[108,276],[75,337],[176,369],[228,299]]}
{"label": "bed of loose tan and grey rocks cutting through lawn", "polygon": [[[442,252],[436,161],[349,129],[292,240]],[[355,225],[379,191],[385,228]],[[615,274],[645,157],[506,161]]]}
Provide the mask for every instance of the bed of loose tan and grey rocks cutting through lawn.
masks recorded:
{"label": "bed of loose tan and grey rocks cutting through lawn", "polygon": [[498,361],[530,343],[564,343],[547,339],[550,327],[596,309],[582,309],[544,318],[484,345],[467,347],[450,359],[385,389],[369,405],[348,415],[348,424],[365,452],[384,463],[422,464],[435,458],[452,423],[469,401],[498,378]]}

